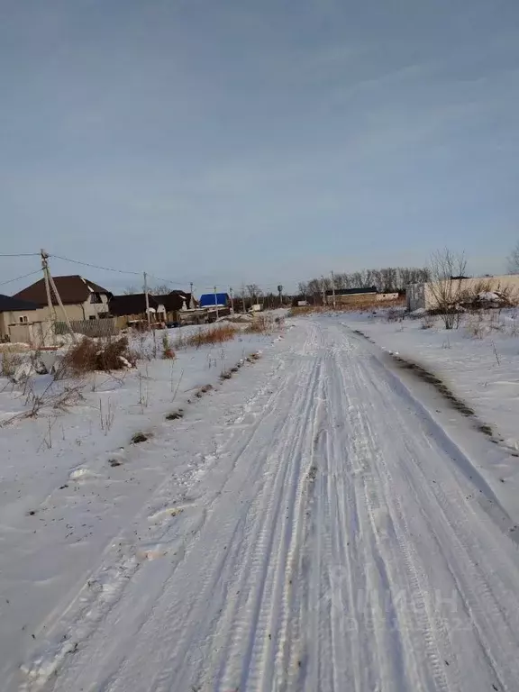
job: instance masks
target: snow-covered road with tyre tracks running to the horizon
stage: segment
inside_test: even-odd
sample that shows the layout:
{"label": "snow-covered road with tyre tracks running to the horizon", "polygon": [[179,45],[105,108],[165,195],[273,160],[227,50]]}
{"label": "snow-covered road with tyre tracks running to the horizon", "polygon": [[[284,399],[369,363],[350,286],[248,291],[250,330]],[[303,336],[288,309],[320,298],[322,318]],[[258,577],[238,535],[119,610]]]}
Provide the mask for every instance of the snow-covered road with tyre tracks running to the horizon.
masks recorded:
{"label": "snow-covered road with tyre tracks running to the horizon", "polygon": [[250,373],[179,425],[196,480],[159,488],[23,688],[516,691],[513,512],[478,460],[340,323]]}

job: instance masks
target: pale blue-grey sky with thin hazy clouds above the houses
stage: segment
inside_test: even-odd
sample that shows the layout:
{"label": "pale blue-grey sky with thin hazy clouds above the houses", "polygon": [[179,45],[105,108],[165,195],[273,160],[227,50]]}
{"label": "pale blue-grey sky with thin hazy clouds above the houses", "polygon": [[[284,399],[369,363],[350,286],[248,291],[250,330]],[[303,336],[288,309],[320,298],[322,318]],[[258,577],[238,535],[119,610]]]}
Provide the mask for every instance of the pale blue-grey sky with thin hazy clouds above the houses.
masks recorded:
{"label": "pale blue-grey sky with thin hazy clouds above the houses", "polygon": [[4,0],[0,87],[2,253],[268,288],[519,239],[516,0]]}

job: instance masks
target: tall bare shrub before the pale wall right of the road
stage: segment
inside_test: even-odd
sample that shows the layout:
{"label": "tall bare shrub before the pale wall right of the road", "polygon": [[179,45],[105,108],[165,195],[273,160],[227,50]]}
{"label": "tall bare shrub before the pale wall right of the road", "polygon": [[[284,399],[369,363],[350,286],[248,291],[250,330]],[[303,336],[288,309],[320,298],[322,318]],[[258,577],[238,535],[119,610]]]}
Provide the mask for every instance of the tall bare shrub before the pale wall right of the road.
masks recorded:
{"label": "tall bare shrub before the pale wall right of the road", "polygon": [[455,254],[448,248],[434,252],[429,272],[429,290],[435,309],[442,316],[445,329],[460,326],[461,281],[467,270],[467,260],[463,253]]}

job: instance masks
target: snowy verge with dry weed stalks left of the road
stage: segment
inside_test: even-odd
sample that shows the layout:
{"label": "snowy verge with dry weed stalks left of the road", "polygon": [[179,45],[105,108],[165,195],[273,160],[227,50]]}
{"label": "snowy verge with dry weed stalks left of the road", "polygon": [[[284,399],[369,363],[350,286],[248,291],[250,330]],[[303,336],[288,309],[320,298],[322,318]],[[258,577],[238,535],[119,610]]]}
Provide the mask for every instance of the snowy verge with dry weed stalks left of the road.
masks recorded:
{"label": "snowy verge with dry weed stalks left of the road", "polygon": [[[185,339],[198,330],[180,332]],[[169,331],[172,344],[180,332]],[[28,387],[0,378],[0,421],[7,423],[0,428],[0,679],[14,675],[21,652],[45,633],[54,609],[65,607],[114,536],[171,476],[168,431],[177,421],[165,416],[178,409],[188,415],[201,387],[223,387],[222,373],[242,361],[252,367],[250,353],[276,338],[243,334],[181,349],[175,360],[141,360],[137,369],[65,380],[59,389],[77,387],[81,399],[72,396],[76,403],[63,412],[48,396],[34,418],[17,417],[31,410]],[[152,340],[136,341],[152,354]],[[51,380],[32,378],[34,392],[45,392]],[[141,432],[150,434],[146,455],[131,443]],[[195,473],[190,469],[199,461],[189,460],[182,477]]]}

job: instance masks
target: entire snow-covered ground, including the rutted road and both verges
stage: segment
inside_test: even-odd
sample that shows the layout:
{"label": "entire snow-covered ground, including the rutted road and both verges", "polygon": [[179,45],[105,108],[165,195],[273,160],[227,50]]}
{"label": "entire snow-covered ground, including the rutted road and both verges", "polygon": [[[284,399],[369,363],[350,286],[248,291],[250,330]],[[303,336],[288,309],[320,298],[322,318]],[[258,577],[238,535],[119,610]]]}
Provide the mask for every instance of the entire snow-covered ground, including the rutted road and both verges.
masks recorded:
{"label": "entire snow-covered ground, including the rutted road and both verges", "polygon": [[[43,418],[2,430],[3,689],[517,690],[513,431],[493,443],[387,354],[472,367],[476,407],[487,337],[442,349],[436,327],[352,315],[280,336],[229,342],[229,364],[261,357],[199,398],[221,373],[202,350],[175,361],[175,401],[167,361],[145,410],[137,374],[96,387],[50,449]],[[516,338],[489,338],[512,381]]]}

